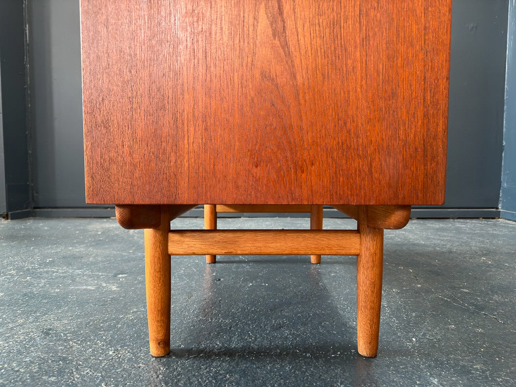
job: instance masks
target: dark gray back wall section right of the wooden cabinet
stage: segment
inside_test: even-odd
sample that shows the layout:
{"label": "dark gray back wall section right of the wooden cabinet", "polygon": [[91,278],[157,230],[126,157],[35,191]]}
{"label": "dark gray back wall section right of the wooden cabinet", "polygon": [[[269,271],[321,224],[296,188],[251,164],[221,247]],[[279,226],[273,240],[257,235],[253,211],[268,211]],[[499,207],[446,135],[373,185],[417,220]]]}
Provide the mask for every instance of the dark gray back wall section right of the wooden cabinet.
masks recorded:
{"label": "dark gray back wall section right of the wooden cabinet", "polygon": [[507,7],[506,0],[453,2],[447,207],[498,207]]}

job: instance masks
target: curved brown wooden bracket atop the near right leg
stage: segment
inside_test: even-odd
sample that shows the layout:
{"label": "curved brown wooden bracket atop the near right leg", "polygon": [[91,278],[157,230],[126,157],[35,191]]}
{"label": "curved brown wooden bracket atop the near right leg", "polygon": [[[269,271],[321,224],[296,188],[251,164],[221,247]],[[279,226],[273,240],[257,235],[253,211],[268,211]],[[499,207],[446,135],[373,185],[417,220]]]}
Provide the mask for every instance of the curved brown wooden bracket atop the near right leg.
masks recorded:
{"label": "curved brown wooden bracket atop the near right leg", "polygon": [[[358,205],[332,205],[332,207],[358,220]],[[367,205],[366,207],[367,227],[370,228],[402,229],[410,219],[410,205]]]}

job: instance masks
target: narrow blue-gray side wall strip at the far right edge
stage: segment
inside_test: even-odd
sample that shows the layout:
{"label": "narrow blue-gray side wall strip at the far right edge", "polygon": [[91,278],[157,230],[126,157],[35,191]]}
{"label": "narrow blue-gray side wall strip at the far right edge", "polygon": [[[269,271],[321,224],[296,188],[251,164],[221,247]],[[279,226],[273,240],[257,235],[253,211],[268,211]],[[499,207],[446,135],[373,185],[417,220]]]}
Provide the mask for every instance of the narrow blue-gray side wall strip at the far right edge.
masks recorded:
{"label": "narrow blue-gray side wall strip at the far right edge", "polygon": [[500,208],[502,217],[516,220],[516,0],[510,1],[508,25],[504,162]]}

